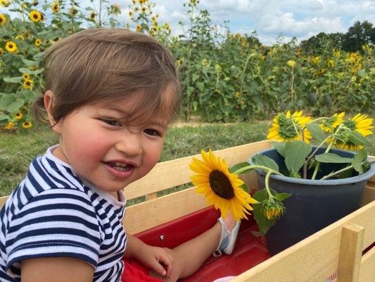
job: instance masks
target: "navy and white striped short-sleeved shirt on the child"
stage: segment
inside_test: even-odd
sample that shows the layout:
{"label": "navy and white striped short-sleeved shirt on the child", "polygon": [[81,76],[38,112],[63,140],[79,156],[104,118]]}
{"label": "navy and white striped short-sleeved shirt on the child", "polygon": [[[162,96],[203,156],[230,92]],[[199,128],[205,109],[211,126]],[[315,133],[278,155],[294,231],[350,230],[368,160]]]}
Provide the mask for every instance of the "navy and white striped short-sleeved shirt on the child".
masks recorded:
{"label": "navy and white striped short-sleeved shirt on the child", "polygon": [[121,281],[125,195],[117,201],[82,180],[55,147],[32,161],[0,211],[0,281],[20,281],[20,262],[38,257],[82,259],[94,281]]}

